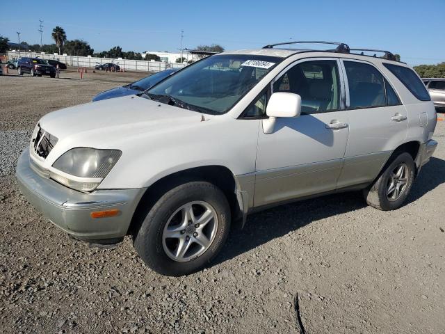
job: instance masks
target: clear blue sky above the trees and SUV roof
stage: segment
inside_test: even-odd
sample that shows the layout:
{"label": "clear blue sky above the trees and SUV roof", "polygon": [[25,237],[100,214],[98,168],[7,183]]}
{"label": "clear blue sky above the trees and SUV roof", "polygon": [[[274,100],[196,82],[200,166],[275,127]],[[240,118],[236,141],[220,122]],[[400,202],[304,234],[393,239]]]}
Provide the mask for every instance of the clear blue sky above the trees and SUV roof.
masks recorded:
{"label": "clear blue sky above the trees and SUV roof", "polygon": [[[0,35],[43,44],[55,26],[95,51],[178,51],[220,44],[253,49],[289,40],[346,42],[387,49],[410,65],[445,61],[445,0],[294,1],[13,1],[19,15],[1,15]],[[38,6],[37,6],[38,4]],[[37,6],[37,10],[33,10]],[[39,16],[40,15],[40,16]]]}

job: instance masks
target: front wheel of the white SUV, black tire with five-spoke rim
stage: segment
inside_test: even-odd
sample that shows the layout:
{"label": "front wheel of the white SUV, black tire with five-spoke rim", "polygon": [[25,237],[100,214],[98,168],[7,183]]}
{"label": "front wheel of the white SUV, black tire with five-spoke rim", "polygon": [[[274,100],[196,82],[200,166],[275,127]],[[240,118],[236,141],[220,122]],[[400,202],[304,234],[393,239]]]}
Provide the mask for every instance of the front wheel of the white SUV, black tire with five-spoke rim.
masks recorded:
{"label": "front wheel of the white SUV, black tire with five-spoke rim", "polygon": [[[194,218],[184,214],[190,211]],[[213,218],[206,223],[204,214]],[[183,276],[206,267],[223,248],[229,230],[230,207],[223,191],[209,182],[187,182],[164,193],[149,209],[133,234],[133,246],[145,264],[157,273]],[[174,237],[166,237],[172,233]],[[206,239],[202,239],[203,235]],[[180,238],[189,247],[184,256],[175,259]],[[201,244],[200,239],[205,242]]]}

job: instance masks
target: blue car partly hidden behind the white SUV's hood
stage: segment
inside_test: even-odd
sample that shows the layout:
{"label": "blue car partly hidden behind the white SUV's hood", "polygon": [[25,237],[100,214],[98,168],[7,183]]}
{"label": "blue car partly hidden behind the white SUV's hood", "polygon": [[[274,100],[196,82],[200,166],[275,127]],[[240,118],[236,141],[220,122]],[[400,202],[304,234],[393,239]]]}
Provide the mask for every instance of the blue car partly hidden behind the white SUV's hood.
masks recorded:
{"label": "blue car partly hidden behind the white SUV's hood", "polygon": [[95,97],[93,97],[92,101],[95,102],[95,101],[101,101],[101,100],[106,100],[106,99],[112,99],[113,97],[121,97],[121,96],[138,94],[138,93],[143,92],[144,90],[147,90],[148,88],[154,86],[159,81],[165,79],[169,75],[177,72],[177,70],[179,70],[179,68],[169,68],[168,70],[163,70],[156,74],[152,74],[149,77],[140,79],[139,81],[133,82],[132,84],[105,90],[104,92],[99,93]]}

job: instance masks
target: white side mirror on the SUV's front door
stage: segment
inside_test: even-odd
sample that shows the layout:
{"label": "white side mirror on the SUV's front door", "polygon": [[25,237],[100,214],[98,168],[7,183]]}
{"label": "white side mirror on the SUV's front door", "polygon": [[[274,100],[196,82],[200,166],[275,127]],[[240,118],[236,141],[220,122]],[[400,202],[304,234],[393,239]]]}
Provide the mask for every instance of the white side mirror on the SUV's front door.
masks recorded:
{"label": "white side mirror on the SUV's front door", "polygon": [[271,134],[277,117],[298,117],[301,113],[301,97],[293,93],[273,93],[266,107],[268,119],[263,120],[265,134]]}

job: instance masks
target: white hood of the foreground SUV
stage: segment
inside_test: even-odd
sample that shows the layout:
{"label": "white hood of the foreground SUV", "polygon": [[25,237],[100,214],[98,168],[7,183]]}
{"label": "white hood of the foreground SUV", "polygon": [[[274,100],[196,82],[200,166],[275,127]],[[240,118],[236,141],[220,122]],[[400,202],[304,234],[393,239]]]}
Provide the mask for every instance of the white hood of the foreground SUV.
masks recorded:
{"label": "white hood of the foreground SUV", "polygon": [[199,126],[201,119],[201,113],[131,95],[54,111],[39,123],[58,138],[47,157],[47,163],[52,163],[76,147],[124,151],[140,141],[159,144],[163,136]]}

